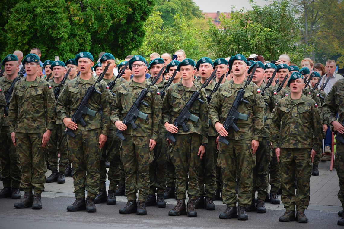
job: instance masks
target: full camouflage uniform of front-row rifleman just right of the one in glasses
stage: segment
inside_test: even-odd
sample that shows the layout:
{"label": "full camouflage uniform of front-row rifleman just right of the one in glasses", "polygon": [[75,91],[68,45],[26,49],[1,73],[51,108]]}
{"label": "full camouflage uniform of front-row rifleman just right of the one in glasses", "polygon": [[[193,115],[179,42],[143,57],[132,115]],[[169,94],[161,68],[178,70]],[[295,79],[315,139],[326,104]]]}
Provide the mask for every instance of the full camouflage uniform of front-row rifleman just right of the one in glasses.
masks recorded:
{"label": "full camouflage uniform of front-row rifleman just right of the one in glasses", "polygon": [[[163,123],[172,123],[182,111],[192,93],[199,89],[200,87],[196,85],[187,88],[183,86],[182,81],[171,85],[167,89],[163,100]],[[175,193],[179,200],[186,198],[185,192],[188,173],[189,188],[187,190],[187,195],[189,199],[196,199],[200,196],[198,170],[201,160],[197,153],[201,143],[208,142],[207,136],[209,132],[208,103],[206,101],[204,89],[201,90],[199,98],[203,100],[204,103],[200,104],[198,101],[195,101],[190,112],[200,117],[200,120],[195,123],[189,119],[186,122],[186,126],[189,130],[184,132],[183,128],[179,127],[178,133],[173,135],[176,141],[175,144],[172,144],[171,157],[176,174]]]}

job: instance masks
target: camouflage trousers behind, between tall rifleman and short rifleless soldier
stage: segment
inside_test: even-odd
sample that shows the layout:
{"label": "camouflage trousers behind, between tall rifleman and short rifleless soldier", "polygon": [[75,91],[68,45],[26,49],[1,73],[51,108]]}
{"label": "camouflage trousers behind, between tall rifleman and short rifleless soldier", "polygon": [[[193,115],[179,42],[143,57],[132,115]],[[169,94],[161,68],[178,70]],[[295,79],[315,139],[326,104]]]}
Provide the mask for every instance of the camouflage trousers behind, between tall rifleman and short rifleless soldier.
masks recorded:
{"label": "camouflage trousers behind, between tall rifleman and short rifleless soldier", "polygon": [[264,200],[269,190],[269,163],[272,157],[269,138],[263,138],[259,142],[256,151],[256,166],[252,173],[252,195],[258,192],[258,199]]}

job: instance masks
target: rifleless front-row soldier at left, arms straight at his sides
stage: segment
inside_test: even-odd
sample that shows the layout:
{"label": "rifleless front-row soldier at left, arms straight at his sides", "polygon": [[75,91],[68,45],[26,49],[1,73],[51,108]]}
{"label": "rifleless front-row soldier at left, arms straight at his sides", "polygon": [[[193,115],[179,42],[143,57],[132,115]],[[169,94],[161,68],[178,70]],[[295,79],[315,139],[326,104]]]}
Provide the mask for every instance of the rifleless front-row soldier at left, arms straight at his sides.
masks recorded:
{"label": "rifleless front-row soldier at left, arms straight at his sides", "polygon": [[[55,125],[55,98],[49,84],[37,78],[39,57],[28,54],[23,59],[26,77],[18,81],[11,97],[9,126],[11,138],[20,159],[24,198],[15,208],[42,209],[44,157]],[[32,187],[35,193],[32,196]]]}

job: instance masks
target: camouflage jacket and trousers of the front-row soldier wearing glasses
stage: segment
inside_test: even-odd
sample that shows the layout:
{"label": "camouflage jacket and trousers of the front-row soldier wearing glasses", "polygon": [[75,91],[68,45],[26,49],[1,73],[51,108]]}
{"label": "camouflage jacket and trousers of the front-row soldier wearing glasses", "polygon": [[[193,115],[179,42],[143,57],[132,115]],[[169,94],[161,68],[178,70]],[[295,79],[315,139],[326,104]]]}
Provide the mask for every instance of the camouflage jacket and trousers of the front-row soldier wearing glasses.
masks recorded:
{"label": "camouflage jacket and trousers of the front-row soldier wearing glasses", "polygon": [[[148,81],[137,83],[133,79],[120,85],[112,104],[110,118],[113,123],[126,116],[147,85],[149,85]],[[144,102],[149,106],[139,107],[141,112],[148,115],[147,120],[139,118],[135,122],[136,129],[128,124],[128,128],[122,132],[126,139],[122,141],[120,157],[125,170],[128,201],[136,200],[136,193],[139,190],[138,200],[146,202],[149,192],[149,164],[154,159],[154,152],[149,151],[149,141],[150,139],[158,141],[161,98],[157,86],[151,86],[148,91]]]}

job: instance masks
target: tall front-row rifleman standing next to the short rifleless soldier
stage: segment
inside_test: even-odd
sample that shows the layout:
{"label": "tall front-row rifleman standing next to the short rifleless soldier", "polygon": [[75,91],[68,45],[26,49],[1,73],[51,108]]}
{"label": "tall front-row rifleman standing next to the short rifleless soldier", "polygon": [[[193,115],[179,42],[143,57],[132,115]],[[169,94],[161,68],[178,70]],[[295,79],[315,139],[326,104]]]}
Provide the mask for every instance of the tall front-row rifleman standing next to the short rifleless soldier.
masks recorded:
{"label": "tall front-row rifleman standing next to the short rifleless soldier", "polygon": [[[227,205],[220,219],[238,217],[239,220],[247,220],[247,205],[252,198],[252,170],[256,163],[255,153],[262,140],[264,99],[254,83],[245,88],[244,100],[240,103],[238,112],[248,115],[248,121],[238,119],[236,125],[238,132],[227,130],[223,122],[227,118],[228,111],[233,105],[236,93],[245,84],[247,60],[241,55],[232,56],[228,61],[229,68],[233,69],[234,77],[222,84],[209,106],[209,116],[217,133],[229,139],[229,145],[219,144],[218,163],[221,164],[223,176],[223,202]],[[238,171],[237,171],[238,168]],[[235,193],[236,179],[238,178],[238,211],[236,209],[237,197]]]}

